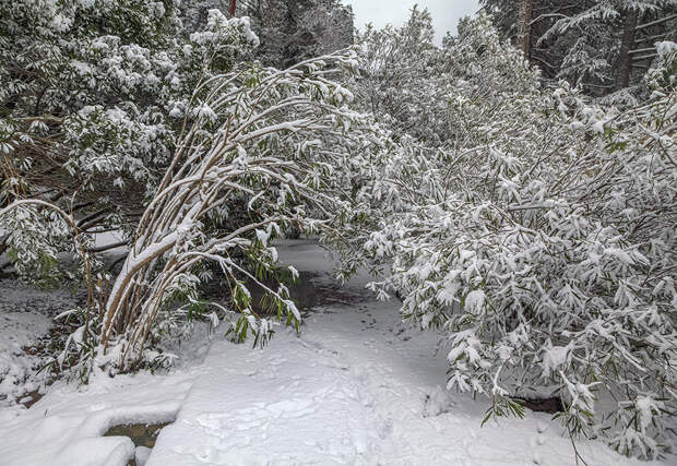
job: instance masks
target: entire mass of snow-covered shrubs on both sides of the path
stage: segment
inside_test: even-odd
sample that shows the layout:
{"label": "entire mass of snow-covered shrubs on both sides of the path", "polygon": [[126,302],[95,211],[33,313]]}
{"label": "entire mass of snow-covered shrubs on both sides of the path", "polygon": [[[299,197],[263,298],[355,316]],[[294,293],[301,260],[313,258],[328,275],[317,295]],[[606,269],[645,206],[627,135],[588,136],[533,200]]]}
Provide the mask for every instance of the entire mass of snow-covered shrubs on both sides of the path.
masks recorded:
{"label": "entire mass of snow-covered shrubs on both sides of the path", "polygon": [[[284,285],[266,288],[276,319],[252,310],[246,285],[278,271],[271,241],[295,225],[342,253],[344,276],[370,266],[406,322],[440,332],[449,387],[491,399],[487,417],[555,395],[571,435],[643,457],[675,443],[672,3],[632,3],[656,21],[633,31],[657,37],[625,99],[586,95],[618,87],[620,56],[634,55],[619,36],[625,2],[561,3],[555,16],[523,2],[522,50],[484,14],[437,47],[414,9],[402,27],[284,71],[266,64],[342,41],[326,19],[346,10],[302,3],[324,9],[314,23],[301,3],[271,0],[269,15],[240,3],[262,14],[256,49],[249,21],[217,9],[20,3],[2,3],[0,20],[9,255],[45,276],[70,248],[91,275],[93,222],[133,231],[57,363],[114,373],[162,360],[162,338],[194,316],[257,343],[276,320],[298,325]],[[503,35],[510,24],[499,19]],[[541,48],[553,70],[526,59]],[[230,302],[200,294],[206,263]]]}

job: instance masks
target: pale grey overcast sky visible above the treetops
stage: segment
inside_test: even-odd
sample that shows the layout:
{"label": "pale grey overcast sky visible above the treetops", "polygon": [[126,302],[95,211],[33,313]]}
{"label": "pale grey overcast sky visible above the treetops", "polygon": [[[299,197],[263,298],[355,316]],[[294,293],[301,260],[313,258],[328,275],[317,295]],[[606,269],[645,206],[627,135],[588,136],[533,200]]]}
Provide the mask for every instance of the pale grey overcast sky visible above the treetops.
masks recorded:
{"label": "pale grey overcast sky visible above the treetops", "polygon": [[412,7],[418,3],[432,14],[438,43],[447,31],[456,31],[461,17],[479,9],[478,0],[343,0],[343,3],[353,5],[359,28],[367,23],[373,23],[376,27],[388,23],[399,26],[408,17]]}

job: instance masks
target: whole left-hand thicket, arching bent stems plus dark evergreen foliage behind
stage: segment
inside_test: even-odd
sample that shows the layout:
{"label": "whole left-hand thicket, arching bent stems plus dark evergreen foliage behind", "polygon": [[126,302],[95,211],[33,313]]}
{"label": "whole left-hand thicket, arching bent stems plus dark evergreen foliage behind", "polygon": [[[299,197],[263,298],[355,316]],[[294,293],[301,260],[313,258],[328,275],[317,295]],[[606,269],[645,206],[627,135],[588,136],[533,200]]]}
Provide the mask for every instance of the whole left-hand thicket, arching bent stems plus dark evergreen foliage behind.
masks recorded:
{"label": "whole left-hand thicket, arching bent stems plus dark evergreen foliage behind", "polygon": [[[21,3],[3,3],[1,23],[0,232],[24,278],[59,285],[63,252],[82,265],[88,306],[56,367],[76,361],[86,377],[156,363],[149,346],[205,315],[228,319],[238,340],[265,342],[275,319],[298,325],[285,286],[259,282],[277,272],[270,241],[292,226],[340,237],[359,214],[359,160],[388,145],[332,81],[355,71],[354,51],[278,71],[245,61],[259,39],[218,9]],[[127,230],[130,252],[95,289],[106,228]],[[200,292],[214,271],[228,307]],[[253,312],[247,280],[275,319]]]}

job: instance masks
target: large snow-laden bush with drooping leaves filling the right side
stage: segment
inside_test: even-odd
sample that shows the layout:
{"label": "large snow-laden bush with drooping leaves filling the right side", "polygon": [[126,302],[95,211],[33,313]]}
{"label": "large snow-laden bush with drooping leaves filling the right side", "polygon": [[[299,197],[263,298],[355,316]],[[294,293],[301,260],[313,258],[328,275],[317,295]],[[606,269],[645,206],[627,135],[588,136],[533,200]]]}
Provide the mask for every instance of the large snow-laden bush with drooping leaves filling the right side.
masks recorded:
{"label": "large snow-laden bush with drooping leaves filling the right side", "polygon": [[392,258],[373,287],[443,330],[449,387],[492,398],[488,417],[549,392],[571,434],[654,456],[677,409],[674,89],[595,107],[541,89],[486,17],[459,31],[447,148],[404,154],[377,183],[399,207],[365,244]]}

